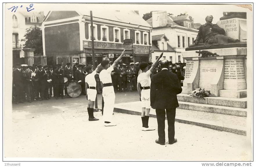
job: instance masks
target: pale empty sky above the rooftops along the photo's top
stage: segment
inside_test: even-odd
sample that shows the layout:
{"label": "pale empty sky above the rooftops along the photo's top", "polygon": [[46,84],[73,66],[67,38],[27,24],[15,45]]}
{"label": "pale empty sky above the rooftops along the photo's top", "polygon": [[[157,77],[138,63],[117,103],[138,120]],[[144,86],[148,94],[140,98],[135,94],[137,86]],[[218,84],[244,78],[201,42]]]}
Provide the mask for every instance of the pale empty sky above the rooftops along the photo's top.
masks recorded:
{"label": "pale empty sky above the rooftops along the photo's top", "polygon": [[[29,6],[30,3],[15,3],[15,5]],[[13,5],[13,4],[8,4]],[[219,18],[223,16],[223,12],[250,12],[249,9],[238,7],[236,5],[203,5],[203,4],[54,4],[54,3],[34,3],[33,11],[44,11],[46,15],[49,10],[88,10],[111,12],[111,10],[138,10],[140,16],[143,14],[162,10],[177,16],[180,13],[187,13],[192,16],[194,23],[205,23],[207,15],[213,16],[212,23],[217,23]],[[25,11],[25,8],[18,8],[17,11]],[[251,12],[250,12],[251,13]]]}

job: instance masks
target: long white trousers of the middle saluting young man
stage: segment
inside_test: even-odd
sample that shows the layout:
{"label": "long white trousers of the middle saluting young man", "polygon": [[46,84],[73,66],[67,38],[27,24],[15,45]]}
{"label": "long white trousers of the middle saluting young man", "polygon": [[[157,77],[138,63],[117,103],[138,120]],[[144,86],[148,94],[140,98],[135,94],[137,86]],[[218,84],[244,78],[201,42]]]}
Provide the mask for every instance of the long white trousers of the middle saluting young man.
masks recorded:
{"label": "long white trousers of the middle saluting young man", "polygon": [[107,122],[112,122],[113,110],[115,104],[115,92],[114,87],[103,87],[102,96],[104,99],[104,108],[103,108],[103,120]]}

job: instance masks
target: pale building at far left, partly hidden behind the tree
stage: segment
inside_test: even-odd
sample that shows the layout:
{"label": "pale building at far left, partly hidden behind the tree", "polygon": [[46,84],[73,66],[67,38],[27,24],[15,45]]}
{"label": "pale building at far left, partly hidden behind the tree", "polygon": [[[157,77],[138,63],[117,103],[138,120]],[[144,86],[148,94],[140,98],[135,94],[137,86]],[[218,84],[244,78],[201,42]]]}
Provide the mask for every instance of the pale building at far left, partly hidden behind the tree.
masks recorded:
{"label": "pale building at far left, partly hidden behind the tree", "polygon": [[26,29],[37,25],[41,27],[44,12],[17,12],[12,15],[12,63],[25,63],[23,45],[21,41],[26,34]]}

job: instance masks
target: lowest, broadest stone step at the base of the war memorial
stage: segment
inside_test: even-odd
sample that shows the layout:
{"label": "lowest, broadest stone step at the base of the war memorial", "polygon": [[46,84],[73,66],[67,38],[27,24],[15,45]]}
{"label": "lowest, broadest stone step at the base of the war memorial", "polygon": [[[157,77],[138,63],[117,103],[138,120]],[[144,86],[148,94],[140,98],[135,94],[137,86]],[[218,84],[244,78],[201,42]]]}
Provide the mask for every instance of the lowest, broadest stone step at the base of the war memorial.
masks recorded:
{"label": "lowest, broadest stone step at the base of the war memorial", "polygon": [[[208,104],[209,105],[209,104]],[[116,104],[114,112],[141,115],[139,102]],[[150,117],[156,118],[156,111],[151,109]],[[167,118],[165,118],[167,119]],[[238,135],[246,135],[246,117],[226,115],[221,113],[209,113],[188,109],[176,109],[176,122],[210,128],[218,131],[226,131]]]}

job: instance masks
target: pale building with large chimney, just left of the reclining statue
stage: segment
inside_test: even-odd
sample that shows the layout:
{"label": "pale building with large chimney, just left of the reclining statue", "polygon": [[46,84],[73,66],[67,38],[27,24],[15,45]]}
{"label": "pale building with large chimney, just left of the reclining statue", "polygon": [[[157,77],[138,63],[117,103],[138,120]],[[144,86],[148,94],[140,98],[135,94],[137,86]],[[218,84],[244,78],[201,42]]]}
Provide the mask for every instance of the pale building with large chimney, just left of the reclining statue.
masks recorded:
{"label": "pale building with large chimney, just left of the reclining statue", "polygon": [[172,56],[172,60],[169,59],[169,61],[185,63],[181,52],[184,52],[186,47],[194,43],[198,34],[198,30],[194,28],[191,16],[170,17],[166,11],[153,11],[152,17],[147,22],[153,27],[152,36],[164,34],[169,39],[167,43],[175,51],[175,56]]}

